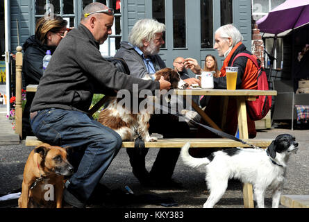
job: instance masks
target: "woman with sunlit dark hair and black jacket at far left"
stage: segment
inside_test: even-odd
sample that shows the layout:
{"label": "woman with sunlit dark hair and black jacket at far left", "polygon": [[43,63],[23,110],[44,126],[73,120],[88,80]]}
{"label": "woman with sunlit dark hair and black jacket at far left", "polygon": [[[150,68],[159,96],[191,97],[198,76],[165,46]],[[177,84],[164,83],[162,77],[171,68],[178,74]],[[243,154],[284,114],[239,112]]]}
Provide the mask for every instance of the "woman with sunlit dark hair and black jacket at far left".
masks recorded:
{"label": "woman with sunlit dark hair and black jacket at far left", "polygon": [[[35,35],[28,37],[22,49],[24,50],[23,79],[24,87],[29,84],[39,84],[43,75],[43,58],[47,50],[55,51],[63,37],[67,35],[67,21],[58,15],[41,17],[35,26]],[[34,93],[26,94],[26,105],[22,118],[22,135],[33,135],[29,123],[30,107]]]}

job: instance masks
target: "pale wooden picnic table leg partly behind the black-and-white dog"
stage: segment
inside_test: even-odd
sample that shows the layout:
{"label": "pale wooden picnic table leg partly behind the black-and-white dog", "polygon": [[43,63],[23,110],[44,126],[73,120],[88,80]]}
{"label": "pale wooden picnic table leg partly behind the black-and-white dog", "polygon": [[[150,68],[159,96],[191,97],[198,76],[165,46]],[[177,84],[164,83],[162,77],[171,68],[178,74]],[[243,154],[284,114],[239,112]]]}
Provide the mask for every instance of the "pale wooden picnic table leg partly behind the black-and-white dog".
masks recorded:
{"label": "pale wooden picnic table leg partly behind the black-and-white dog", "polygon": [[[246,98],[244,96],[237,97],[237,111],[238,111],[238,130],[240,139],[248,139],[248,124],[247,124],[247,110]],[[253,203],[253,187],[249,183],[243,186],[244,207],[254,208]]]}

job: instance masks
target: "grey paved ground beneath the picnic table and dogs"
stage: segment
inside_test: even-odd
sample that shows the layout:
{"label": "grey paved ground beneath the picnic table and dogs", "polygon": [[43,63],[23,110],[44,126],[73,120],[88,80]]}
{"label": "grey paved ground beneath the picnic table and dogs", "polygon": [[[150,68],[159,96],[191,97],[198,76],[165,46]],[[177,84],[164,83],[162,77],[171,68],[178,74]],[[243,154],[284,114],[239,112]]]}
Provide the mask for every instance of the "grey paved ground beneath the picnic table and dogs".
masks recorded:
{"label": "grey paved ground beneath the picnic table and dogs", "polygon": [[[258,132],[258,138],[274,138],[281,133],[290,133],[299,142],[299,151],[292,155],[287,169],[287,181],[283,189],[283,194],[309,194],[309,130],[289,130],[275,128],[272,130],[262,130]],[[19,145],[0,146],[0,194],[6,194],[18,189],[22,185],[22,173],[24,164],[33,147],[24,146],[24,141]],[[150,149],[147,155],[147,168],[150,169],[158,150]],[[205,173],[203,169],[190,169],[185,167],[181,160],[178,160],[174,171],[174,179],[183,183],[183,189],[146,189],[141,187],[137,179],[131,173],[131,166],[128,162],[128,155],[122,149],[110,168],[101,179],[101,183],[112,189],[111,194],[107,194],[102,199],[102,203],[90,205],[91,208],[162,208],[167,209],[157,202],[171,203],[167,198],[173,198],[178,208],[199,208],[208,197],[204,182]],[[124,195],[125,186],[130,187],[135,196]],[[151,196],[151,195],[154,196]],[[153,198],[164,198],[158,200]],[[266,207],[271,207],[271,194],[266,194]],[[16,207],[17,201],[12,201],[0,207]],[[228,190],[222,200],[215,206],[217,208],[242,208],[242,184],[231,181]],[[283,207],[283,206],[281,206]]]}

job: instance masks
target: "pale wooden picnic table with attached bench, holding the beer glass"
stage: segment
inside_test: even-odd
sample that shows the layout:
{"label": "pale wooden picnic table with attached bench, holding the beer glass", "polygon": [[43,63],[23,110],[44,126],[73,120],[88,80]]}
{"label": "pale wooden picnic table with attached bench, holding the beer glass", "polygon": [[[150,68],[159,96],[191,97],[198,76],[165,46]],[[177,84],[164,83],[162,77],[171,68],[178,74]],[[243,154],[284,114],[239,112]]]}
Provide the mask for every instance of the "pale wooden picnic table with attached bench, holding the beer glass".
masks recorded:
{"label": "pale wooden picnic table with attached bench, holding the beer glass", "polygon": [[[27,92],[36,92],[37,85],[28,85],[26,90]],[[277,92],[275,90],[252,90],[252,89],[237,89],[237,90],[227,90],[227,89],[175,89],[174,94],[177,95],[183,95],[183,96],[225,96],[224,104],[222,107],[227,108],[227,102],[229,96],[234,96],[237,101],[237,112],[238,112],[238,130],[239,130],[239,136],[240,139],[247,140],[249,139],[248,135],[248,126],[247,126],[247,109],[246,109],[246,101],[254,101],[256,99],[256,96],[276,96]],[[194,110],[196,110],[201,117],[212,126],[212,128],[216,128],[217,130],[221,130],[219,126],[215,122],[213,122],[208,115],[203,112],[203,110],[192,101],[192,107]],[[223,112],[226,113],[226,109],[223,109]],[[222,117],[225,117],[225,114],[222,114]],[[222,121],[224,122],[224,121]],[[31,140],[31,142],[37,143],[35,139]],[[31,144],[29,142],[29,144]],[[176,141],[171,142],[170,139],[167,139],[167,141],[159,141],[154,142],[151,144],[148,144],[147,147],[174,147],[175,142],[178,142],[178,146],[182,146],[184,143],[181,139],[176,139]],[[192,140],[194,143],[194,146],[200,146],[200,147],[213,147],[218,146],[220,147],[220,142],[224,144],[224,146],[230,146],[235,147],[237,146],[237,143],[235,144],[232,140],[226,140],[224,138],[222,139],[215,139],[215,142],[217,145],[213,144],[213,141],[211,139],[204,139],[197,143],[197,141]],[[253,142],[253,141],[252,141]],[[260,141],[258,141],[260,142]],[[40,143],[40,141],[38,142]],[[269,139],[265,139],[265,143],[269,144]],[[124,142],[124,147],[134,147],[134,142]],[[250,184],[244,184],[243,187],[243,196],[244,196],[244,207],[246,208],[253,208],[253,188]]]}

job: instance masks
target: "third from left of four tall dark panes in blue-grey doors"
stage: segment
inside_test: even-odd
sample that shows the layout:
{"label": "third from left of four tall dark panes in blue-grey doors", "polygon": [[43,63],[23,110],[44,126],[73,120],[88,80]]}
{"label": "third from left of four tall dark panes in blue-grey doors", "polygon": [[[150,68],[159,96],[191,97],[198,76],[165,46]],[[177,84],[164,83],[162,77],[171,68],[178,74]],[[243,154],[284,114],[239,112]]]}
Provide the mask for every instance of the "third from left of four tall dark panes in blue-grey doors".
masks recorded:
{"label": "third from left of four tall dark panes in blue-grey doors", "polygon": [[201,0],[201,49],[213,48],[212,0]]}

